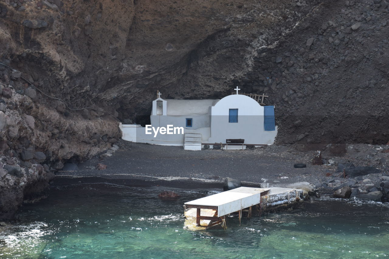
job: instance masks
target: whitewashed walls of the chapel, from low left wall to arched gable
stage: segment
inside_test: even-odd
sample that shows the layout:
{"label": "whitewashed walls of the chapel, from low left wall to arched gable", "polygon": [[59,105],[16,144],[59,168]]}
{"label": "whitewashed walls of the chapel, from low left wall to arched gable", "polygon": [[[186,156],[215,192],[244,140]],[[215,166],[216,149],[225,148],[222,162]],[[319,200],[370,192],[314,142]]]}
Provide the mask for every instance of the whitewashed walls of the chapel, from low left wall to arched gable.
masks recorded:
{"label": "whitewashed walls of the chapel, from low left wall to arched gable", "polygon": [[[234,108],[238,109],[238,122],[230,123],[228,122],[229,110]],[[212,117],[209,115],[151,115],[151,124],[153,127],[166,127],[170,124],[174,127],[183,127],[184,133],[200,133],[203,143],[225,143],[228,138],[243,138],[245,144],[274,143],[277,126],[275,131],[265,131],[264,108],[254,99],[242,94],[233,94],[224,97],[210,109]],[[186,118],[193,118],[192,127],[186,127]],[[153,132],[150,135],[145,134],[145,128],[140,125],[124,124],[120,125],[120,128],[124,140],[157,145],[182,146],[184,144],[184,134],[158,134],[154,138]],[[241,147],[231,146],[231,149],[239,148]]]}

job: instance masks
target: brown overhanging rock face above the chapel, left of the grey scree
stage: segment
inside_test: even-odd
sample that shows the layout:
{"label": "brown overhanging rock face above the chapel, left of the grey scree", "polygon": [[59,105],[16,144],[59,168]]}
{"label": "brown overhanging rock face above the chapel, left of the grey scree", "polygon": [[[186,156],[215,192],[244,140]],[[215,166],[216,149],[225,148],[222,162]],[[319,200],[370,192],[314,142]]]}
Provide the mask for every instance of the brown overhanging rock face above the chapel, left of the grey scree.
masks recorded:
{"label": "brown overhanging rock face above the chapel, left of the grey scree", "polygon": [[317,3],[6,0],[0,46],[35,86],[74,106],[108,103],[132,119],[147,114],[156,89],[165,98],[229,93],[256,50],[288,34]]}

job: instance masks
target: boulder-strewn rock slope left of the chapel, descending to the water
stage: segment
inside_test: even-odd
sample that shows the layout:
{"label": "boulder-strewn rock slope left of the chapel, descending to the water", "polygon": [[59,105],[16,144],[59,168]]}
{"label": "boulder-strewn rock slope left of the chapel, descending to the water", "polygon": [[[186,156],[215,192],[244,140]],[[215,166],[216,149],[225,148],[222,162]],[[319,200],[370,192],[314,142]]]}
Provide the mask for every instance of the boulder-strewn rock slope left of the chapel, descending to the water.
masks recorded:
{"label": "boulder-strewn rock slope left of the chapel, descending to the water", "polygon": [[[39,199],[67,161],[79,162],[111,147],[120,137],[112,117],[86,120],[34,103],[0,84],[0,220],[23,200]],[[5,94],[4,94],[5,93]],[[66,111],[65,111],[66,112]],[[104,136],[104,137],[103,137]]]}

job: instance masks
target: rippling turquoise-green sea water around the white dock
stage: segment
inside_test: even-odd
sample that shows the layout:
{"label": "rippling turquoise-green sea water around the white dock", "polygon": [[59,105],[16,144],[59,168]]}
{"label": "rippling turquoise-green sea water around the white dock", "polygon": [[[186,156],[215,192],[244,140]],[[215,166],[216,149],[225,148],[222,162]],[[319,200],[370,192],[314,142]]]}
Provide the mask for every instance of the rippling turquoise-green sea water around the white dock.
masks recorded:
{"label": "rippling turquoise-green sea water around the white dock", "polygon": [[[389,256],[389,208],[322,200],[293,212],[183,229],[185,201],[205,196],[105,184],[56,187],[0,233],[0,258],[377,258]],[[210,193],[211,194],[211,193]]]}

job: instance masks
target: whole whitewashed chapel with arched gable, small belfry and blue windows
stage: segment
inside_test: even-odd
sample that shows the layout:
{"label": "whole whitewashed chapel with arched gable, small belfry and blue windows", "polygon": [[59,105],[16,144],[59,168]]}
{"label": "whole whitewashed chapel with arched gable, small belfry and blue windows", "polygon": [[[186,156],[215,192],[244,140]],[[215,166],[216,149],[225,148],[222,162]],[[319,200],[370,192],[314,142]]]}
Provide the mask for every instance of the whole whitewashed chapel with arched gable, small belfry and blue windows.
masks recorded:
{"label": "whole whitewashed chapel with arched gable, small belfry and blue windows", "polygon": [[121,124],[122,138],[201,150],[205,144],[226,144],[228,139],[244,139],[243,145],[229,145],[228,149],[271,145],[277,135],[274,106],[261,106],[243,94],[221,100],[165,100],[159,94],[152,102],[150,121],[151,126],[146,127]]}

